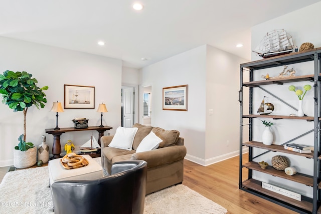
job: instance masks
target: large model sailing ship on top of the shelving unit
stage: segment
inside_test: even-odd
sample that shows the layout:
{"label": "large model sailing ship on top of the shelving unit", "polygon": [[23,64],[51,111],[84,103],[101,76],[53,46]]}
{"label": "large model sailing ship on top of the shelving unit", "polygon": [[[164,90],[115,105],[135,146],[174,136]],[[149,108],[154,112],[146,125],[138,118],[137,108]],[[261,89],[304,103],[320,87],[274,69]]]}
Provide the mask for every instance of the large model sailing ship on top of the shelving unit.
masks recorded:
{"label": "large model sailing ship on top of the shelving unit", "polygon": [[260,57],[269,58],[293,51],[292,37],[284,30],[274,30],[266,33],[260,44],[253,50]]}

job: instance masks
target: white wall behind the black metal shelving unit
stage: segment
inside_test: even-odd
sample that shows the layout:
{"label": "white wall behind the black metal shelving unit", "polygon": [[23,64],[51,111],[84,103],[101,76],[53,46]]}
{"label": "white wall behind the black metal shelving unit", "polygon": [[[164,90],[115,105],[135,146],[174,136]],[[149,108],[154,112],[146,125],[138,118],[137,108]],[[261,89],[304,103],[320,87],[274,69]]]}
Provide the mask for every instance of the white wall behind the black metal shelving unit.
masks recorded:
{"label": "white wall behind the black metal shelving unit", "polygon": [[[299,48],[302,43],[310,42],[314,45],[315,48],[321,47],[321,41],[319,40],[319,35],[321,35],[321,25],[319,23],[319,9],[321,8],[321,2],[308,6],[306,8],[297,10],[290,14],[286,14],[279,18],[270,20],[268,22],[262,23],[260,25],[254,26],[252,28],[252,49],[255,48],[258,43],[261,41],[266,32],[269,32],[274,29],[284,29],[292,37],[293,42]],[[252,54],[252,60],[261,59],[260,57]],[[299,63],[288,65],[288,68],[294,68],[296,71],[295,75],[305,75],[313,74],[313,63]],[[269,76],[277,76],[283,67],[276,67],[272,69],[264,69],[257,72],[254,72],[254,80],[262,80],[260,76],[262,74],[269,73]],[[281,86],[265,86],[264,88],[286,102],[290,103],[293,106],[298,106],[298,98],[295,96],[294,92],[288,90],[289,85],[294,85],[297,87],[303,87],[306,84],[312,85],[311,82],[297,82],[289,83]],[[253,100],[253,110],[256,110],[259,104],[262,101],[262,98],[266,93],[263,93],[260,90],[254,91],[255,96]],[[267,95],[268,96],[268,95]],[[284,104],[277,101],[275,98],[268,96],[268,102],[271,102],[275,110],[272,114],[276,115],[288,115],[290,113],[295,113],[295,110],[284,106]],[[303,99],[303,110],[308,116],[313,116],[313,91],[307,92]],[[274,132],[274,144],[282,144],[310,129],[313,129],[313,122],[306,121],[296,121],[296,120],[268,120],[275,125],[272,126]],[[261,121],[258,119],[254,120],[254,134],[253,140],[261,141],[261,135],[264,129]],[[313,145],[313,134],[308,134],[305,137],[298,138],[293,141],[295,143],[303,143]],[[265,151],[265,150],[264,150]],[[256,149],[254,155],[263,152],[263,150]],[[262,155],[256,158],[254,161],[264,160],[271,164],[271,158],[275,155],[286,156],[290,160],[291,166],[294,166],[298,172],[306,173],[312,175],[312,159],[307,159],[304,157],[297,157],[295,155],[289,155],[279,152],[269,152],[265,155]],[[254,172],[253,177],[265,182],[273,182],[276,185],[283,186],[285,188],[292,189],[295,192],[301,193],[303,195],[312,196],[312,188],[307,187],[303,184],[298,184],[292,181],[284,180],[282,178],[268,176],[263,173]]]}

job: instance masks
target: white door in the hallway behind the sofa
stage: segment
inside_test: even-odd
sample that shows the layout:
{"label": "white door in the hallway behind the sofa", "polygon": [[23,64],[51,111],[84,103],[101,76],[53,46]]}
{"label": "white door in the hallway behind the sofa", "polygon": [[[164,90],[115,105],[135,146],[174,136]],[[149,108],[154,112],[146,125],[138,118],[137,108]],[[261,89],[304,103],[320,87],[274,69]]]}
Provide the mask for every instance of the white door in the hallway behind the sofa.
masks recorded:
{"label": "white door in the hallway behind the sofa", "polygon": [[124,104],[122,126],[131,128],[134,124],[134,88],[124,88],[122,96]]}

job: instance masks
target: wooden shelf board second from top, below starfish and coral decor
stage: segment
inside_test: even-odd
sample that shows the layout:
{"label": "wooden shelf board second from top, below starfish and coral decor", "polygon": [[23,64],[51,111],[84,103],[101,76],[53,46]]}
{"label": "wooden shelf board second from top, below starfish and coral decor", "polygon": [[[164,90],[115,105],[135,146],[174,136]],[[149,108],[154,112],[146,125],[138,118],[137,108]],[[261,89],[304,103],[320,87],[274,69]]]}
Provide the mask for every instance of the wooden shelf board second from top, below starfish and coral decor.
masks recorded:
{"label": "wooden shelf board second from top, below starfish and coral decor", "polygon": [[314,80],[314,75],[304,75],[304,76],[295,76],[295,77],[282,77],[282,78],[275,78],[269,80],[260,80],[260,81],[253,81],[253,82],[244,82],[243,86],[247,87],[256,87],[259,85],[283,85],[283,83],[289,82],[300,82],[300,81],[312,81]]}

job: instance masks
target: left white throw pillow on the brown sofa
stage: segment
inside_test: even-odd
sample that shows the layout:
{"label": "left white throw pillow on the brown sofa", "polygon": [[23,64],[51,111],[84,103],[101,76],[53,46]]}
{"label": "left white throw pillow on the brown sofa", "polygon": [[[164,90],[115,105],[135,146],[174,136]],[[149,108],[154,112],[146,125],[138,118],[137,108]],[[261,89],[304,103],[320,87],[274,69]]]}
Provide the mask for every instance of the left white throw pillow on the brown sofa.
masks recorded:
{"label": "left white throw pillow on the brown sofa", "polygon": [[116,133],[109,143],[109,147],[131,150],[134,137],[136,135],[138,128],[124,128],[118,127]]}

